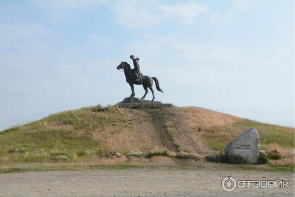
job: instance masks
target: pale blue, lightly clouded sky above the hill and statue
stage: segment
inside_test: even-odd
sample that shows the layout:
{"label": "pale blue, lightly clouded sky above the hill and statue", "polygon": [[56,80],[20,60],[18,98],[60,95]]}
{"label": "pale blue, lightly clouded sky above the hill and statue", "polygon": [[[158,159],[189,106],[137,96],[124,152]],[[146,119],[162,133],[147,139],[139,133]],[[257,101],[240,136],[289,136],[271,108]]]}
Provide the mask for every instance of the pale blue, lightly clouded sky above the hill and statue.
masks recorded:
{"label": "pale blue, lightly clouded sky above the hill and statue", "polygon": [[118,103],[130,55],[158,101],[294,127],[294,29],[293,0],[0,0],[0,130]]}

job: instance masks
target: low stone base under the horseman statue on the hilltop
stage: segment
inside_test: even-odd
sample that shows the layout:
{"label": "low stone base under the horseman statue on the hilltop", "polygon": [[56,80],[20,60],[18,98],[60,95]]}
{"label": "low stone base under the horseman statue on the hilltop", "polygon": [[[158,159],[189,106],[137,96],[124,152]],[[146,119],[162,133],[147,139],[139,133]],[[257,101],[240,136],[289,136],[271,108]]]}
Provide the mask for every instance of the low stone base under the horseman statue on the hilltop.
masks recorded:
{"label": "low stone base under the horseman statue on the hilltop", "polygon": [[136,97],[127,97],[123,99],[123,101],[118,102],[118,106],[121,108],[162,108],[173,107],[173,104],[162,103],[160,101],[140,99]]}

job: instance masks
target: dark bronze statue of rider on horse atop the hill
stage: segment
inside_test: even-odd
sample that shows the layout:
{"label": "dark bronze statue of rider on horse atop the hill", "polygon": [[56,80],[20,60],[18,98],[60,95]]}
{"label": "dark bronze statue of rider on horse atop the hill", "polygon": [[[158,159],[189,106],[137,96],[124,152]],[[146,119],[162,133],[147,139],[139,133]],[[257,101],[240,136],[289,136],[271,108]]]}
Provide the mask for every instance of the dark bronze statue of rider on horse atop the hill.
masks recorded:
{"label": "dark bronze statue of rider on horse atop the hill", "polygon": [[145,97],[148,94],[148,88],[152,93],[152,101],[155,99],[154,91],[152,89],[152,84],[153,80],[156,83],[156,88],[158,91],[163,93],[163,90],[159,86],[159,81],[156,77],[149,77],[147,75],[143,75],[140,71],[140,66],[139,66],[139,58],[136,57],[134,58],[134,55],[131,55],[130,58],[133,61],[134,68],[131,69],[130,65],[127,62],[121,62],[119,66],[117,66],[117,69],[120,71],[124,71],[125,77],[126,77],[126,82],[130,85],[131,87],[131,95],[130,97],[134,97],[134,84],[136,85],[143,85],[146,93],[142,97],[142,99],[145,99]]}

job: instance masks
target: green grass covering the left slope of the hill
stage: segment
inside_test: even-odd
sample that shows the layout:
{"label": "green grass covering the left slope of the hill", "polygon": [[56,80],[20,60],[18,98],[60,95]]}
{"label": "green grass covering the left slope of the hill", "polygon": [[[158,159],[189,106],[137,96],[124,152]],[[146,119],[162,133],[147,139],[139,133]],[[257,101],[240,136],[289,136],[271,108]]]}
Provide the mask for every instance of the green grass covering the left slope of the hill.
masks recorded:
{"label": "green grass covering the left slope of the hill", "polygon": [[[0,164],[52,162],[50,156],[59,153],[69,156],[65,162],[72,162],[74,155],[85,150],[94,150],[96,154],[106,152],[109,148],[103,142],[95,140],[91,132],[95,128],[118,124],[124,120],[121,115],[116,106],[98,105],[60,112],[24,126],[2,131]],[[15,152],[14,149],[18,147],[26,149]],[[43,151],[36,152],[34,148],[42,148]],[[88,157],[84,158],[87,160]]]}

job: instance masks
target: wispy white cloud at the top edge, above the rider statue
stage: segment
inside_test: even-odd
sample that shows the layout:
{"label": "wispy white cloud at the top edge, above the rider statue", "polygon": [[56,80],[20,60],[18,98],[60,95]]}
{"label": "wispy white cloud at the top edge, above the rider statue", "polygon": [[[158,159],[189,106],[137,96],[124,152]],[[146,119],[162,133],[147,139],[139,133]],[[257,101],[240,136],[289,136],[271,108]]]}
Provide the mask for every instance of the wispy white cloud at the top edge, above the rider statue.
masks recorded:
{"label": "wispy white cloud at the top edge, above the rider statue", "polygon": [[113,6],[118,22],[130,29],[146,29],[175,20],[190,24],[207,11],[206,5],[194,1],[161,4],[159,1],[119,0]]}

